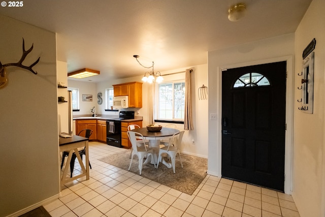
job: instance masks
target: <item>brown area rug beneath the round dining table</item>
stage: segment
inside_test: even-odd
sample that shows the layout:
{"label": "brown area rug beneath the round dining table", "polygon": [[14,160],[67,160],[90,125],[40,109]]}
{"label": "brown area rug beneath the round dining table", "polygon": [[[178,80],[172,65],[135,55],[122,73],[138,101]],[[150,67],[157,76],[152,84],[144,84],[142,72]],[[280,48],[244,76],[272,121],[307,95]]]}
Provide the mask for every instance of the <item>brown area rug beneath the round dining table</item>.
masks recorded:
{"label": "brown area rug beneath the round dining table", "polygon": [[[123,170],[128,170],[131,161],[131,159],[129,159],[130,153],[131,149],[123,149],[120,153],[110,154],[107,157],[99,159],[99,161]],[[148,163],[144,165],[141,176],[160,184],[164,184],[185,194],[192,195],[207,175],[208,159],[190,156],[188,154],[181,154],[181,159],[183,168],[181,167],[177,154],[175,174],[173,168],[167,168],[161,163],[159,163],[157,169],[155,169],[152,164]],[[135,155],[130,172],[139,175],[138,165],[138,157]]]}

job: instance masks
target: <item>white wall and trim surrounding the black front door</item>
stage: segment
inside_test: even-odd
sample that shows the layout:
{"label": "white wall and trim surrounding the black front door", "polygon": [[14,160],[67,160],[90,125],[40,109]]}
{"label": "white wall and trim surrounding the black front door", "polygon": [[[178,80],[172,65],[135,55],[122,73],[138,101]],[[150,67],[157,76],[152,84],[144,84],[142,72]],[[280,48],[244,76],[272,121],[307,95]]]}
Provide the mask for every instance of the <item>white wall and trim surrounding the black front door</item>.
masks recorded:
{"label": "white wall and trim surrounding the black front door", "polygon": [[[221,69],[236,68],[249,65],[270,63],[272,61],[286,61],[287,64],[287,109],[292,107],[290,101],[293,98],[293,55],[294,55],[294,34],[283,35],[265,40],[255,41],[222,50],[210,51],[208,53],[208,81],[209,81],[209,110],[208,113],[216,113],[217,120],[209,120],[209,156],[208,173],[221,176]],[[289,84],[289,85],[288,85]],[[289,92],[289,95],[288,95]],[[291,93],[291,94],[290,94]],[[286,112],[287,133],[286,133],[286,171],[288,167],[288,149],[292,146],[289,130],[293,130],[293,111]],[[288,120],[289,119],[289,120]],[[291,119],[291,121],[290,121]],[[286,174],[290,178],[290,174]],[[286,179],[288,180],[288,179]],[[285,191],[290,190],[289,183],[285,184]]]}

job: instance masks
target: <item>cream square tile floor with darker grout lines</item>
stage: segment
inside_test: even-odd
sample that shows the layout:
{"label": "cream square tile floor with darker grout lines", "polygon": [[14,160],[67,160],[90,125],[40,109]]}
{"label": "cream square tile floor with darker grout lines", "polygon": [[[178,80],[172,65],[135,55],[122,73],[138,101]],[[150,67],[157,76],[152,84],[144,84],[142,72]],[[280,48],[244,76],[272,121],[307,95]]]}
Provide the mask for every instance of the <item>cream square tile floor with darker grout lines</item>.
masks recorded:
{"label": "cream square tile floor with darker grout lines", "polygon": [[[44,205],[53,216],[299,216],[290,195],[207,175],[192,194],[98,161],[120,148],[89,143],[90,179],[75,180]],[[74,173],[78,173],[76,161]],[[63,168],[64,169],[64,168]]]}

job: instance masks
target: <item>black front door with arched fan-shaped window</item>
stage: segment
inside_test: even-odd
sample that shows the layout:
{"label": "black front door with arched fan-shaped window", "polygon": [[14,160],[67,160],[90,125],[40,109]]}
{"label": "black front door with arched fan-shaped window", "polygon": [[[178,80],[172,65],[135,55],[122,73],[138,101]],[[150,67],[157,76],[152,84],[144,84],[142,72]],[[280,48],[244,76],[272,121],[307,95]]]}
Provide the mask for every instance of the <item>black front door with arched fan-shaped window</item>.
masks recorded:
{"label": "black front door with arched fan-shaped window", "polygon": [[222,72],[222,177],[284,190],[286,62]]}

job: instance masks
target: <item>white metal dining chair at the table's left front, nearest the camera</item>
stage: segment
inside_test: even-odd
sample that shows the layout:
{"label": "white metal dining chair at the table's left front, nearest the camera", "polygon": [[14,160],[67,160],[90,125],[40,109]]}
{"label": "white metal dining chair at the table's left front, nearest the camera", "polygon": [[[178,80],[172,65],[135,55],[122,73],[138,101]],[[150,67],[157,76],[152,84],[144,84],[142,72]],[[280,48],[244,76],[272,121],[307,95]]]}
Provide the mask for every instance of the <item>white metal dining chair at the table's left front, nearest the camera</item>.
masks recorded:
{"label": "white metal dining chair at the table's left front, nearest the camera", "polygon": [[[132,152],[131,152],[131,162],[130,165],[128,167],[128,171],[131,169],[131,165],[132,165],[132,161],[133,161],[133,157],[136,154],[138,156],[138,160],[139,160],[139,171],[140,171],[140,175],[141,175],[141,171],[142,168],[145,164],[147,164],[149,162],[149,160],[153,159],[153,151],[152,148],[149,148],[146,146],[145,142],[144,142],[144,138],[142,136],[142,134],[137,133],[137,132],[133,132],[133,131],[127,131],[127,136],[129,138],[129,140],[131,141],[132,144]],[[137,137],[140,137],[141,140],[137,140]],[[141,144],[141,145],[139,145]],[[150,158],[149,158],[150,156]],[[145,162],[144,161],[144,157],[147,157]],[[154,164],[154,168],[156,168],[156,165]]]}

